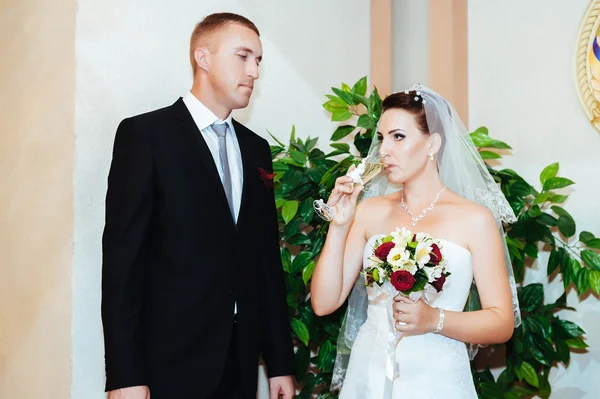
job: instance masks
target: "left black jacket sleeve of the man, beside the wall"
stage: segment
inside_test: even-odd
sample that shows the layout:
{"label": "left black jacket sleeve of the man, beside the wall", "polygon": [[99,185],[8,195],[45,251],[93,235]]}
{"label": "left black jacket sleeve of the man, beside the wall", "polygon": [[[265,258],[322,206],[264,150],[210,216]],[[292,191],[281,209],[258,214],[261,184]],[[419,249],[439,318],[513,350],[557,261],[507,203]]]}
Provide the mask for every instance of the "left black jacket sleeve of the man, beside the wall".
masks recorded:
{"label": "left black jacket sleeve of the man, beside the wall", "polygon": [[141,319],[152,169],[146,132],[135,120],[124,120],[115,137],[102,237],[101,312],[107,391],[147,385]]}

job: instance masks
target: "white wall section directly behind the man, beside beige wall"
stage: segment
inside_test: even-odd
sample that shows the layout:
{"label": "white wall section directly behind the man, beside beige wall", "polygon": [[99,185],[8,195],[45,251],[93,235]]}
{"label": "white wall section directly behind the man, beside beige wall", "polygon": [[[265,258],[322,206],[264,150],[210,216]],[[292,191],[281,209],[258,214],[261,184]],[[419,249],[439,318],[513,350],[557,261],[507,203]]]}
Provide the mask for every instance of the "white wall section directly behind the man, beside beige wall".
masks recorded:
{"label": "white wall section directly behind the man, beside beige wall", "polygon": [[236,113],[258,134],[285,139],[295,124],[298,135],[326,142],[335,126],[324,94],[369,74],[368,1],[79,0],[72,398],[104,397],[101,233],[115,129],[191,86],[189,35],[217,11],[245,15],[261,31],[261,78],[250,107]]}

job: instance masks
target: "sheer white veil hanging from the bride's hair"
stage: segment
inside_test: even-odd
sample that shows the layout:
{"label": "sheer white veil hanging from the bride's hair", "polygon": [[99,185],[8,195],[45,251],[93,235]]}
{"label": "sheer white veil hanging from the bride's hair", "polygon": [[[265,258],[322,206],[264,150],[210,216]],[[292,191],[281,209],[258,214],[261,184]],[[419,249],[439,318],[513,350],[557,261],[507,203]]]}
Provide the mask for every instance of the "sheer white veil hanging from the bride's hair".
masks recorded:
{"label": "sheer white veil hanging from the bride's hair", "polygon": [[[395,93],[396,94],[396,93]],[[504,194],[490,175],[487,166],[481,159],[477,148],[473,144],[467,129],[463,125],[454,107],[440,94],[425,86],[416,85],[404,91],[415,102],[421,102],[425,109],[427,126],[432,133],[439,133],[442,137],[442,146],[437,153],[437,164],[442,182],[448,189],[479,203],[490,209],[496,217],[499,234],[504,243],[504,256],[512,291],[515,327],[521,324],[521,311],[517,299],[517,287],[514,272],[510,262],[506,240],[504,239],[503,222],[512,223],[517,219]],[[377,134],[367,155],[368,159],[379,158],[379,140]],[[361,197],[365,198],[384,195],[397,191],[398,187],[391,186],[385,175],[379,175],[366,184]],[[472,285],[471,294],[465,310],[479,310],[481,305],[475,284]],[[367,317],[367,293],[364,278],[358,278],[348,300],[348,310],[342,322],[337,343],[337,355],[333,370],[331,389],[339,389],[342,385],[352,344],[358,329]],[[477,353],[478,345],[468,345],[469,356],[473,359]]]}

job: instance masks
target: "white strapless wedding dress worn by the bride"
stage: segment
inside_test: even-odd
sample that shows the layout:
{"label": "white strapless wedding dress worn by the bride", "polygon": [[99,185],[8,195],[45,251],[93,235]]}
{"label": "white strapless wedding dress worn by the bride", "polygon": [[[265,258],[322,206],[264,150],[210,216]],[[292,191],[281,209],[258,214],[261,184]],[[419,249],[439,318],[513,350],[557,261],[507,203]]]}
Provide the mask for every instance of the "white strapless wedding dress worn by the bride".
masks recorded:
{"label": "white strapless wedding dress worn by the bride", "polygon": [[[373,245],[383,234],[371,237],[364,261],[373,254]],[[443,291],[431,305],[462,311],[473,280],[471,253],[450,241],[440,240],[448,260],[448,277]],[[467,347],[463,342],[441,334],[402,337],[396,346],[398,378],[386,377],[390,323],[385,294],[373,298],[368,287],[367,320],[361,326],[348,363],[340,399],[477,399]]]}

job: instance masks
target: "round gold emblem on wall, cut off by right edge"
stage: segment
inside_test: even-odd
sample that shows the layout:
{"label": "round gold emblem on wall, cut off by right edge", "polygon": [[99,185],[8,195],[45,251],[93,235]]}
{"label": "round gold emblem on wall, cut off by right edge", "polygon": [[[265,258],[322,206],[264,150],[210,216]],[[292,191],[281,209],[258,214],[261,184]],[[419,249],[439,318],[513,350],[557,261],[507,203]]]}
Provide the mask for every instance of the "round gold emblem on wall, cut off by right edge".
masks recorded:
{"label": "round gold emblem on wall, cut off by right edge", "polygon": [[583,110],[600,131],[600,0],[590,2],[579,26],[575,77]]}

